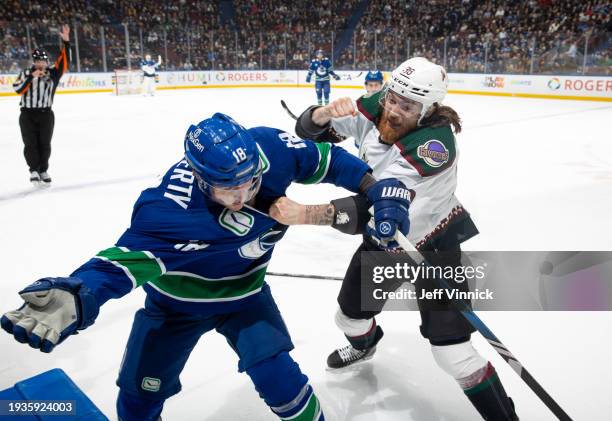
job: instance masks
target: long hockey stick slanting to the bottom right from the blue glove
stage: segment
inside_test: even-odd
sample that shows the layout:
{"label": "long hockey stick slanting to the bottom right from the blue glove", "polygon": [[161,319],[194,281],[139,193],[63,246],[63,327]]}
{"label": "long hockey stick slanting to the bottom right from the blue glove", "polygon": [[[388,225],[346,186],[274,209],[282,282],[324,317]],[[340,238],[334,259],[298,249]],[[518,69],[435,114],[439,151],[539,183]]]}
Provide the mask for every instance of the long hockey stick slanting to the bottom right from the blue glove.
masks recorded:
{"label": "long hockey stick slanting to the bottom right from the blue glove", "polygon": [[[399,231],[396,231],[395,240],[399,243],[400,247],[403,248],[407,252],[416,252],[410,255],[411,258],[417,264],[427,264],[425,258],[421,255],[421,253],[408,241],[408,239]],[[449,289],[449,285],[443,280],[439,279],[442,286],[446,289]],[[480,317],[474,313],[474,311],[470,308],[470,306],[464,302],[463,300],[453,301],[455,303],[457,310],[461,312],[463,317],[467,319],[468,322],[476,330],[478,330],[482,336],[491,344],[491,346],[497,351],[497,353],[512,367],[514,371],[519,375],[521,379],[527,386],[533,390],[538,398],[552,411],[553,414],[560,421],[572,421],[569,415],[559,406],[559,404],[544,390],[544,388],[537,382],[536,379],[527,371],[525,367],[520,363],[520,361],[512,355],[512,353],[506,348],[502,341],[500,341],[497,336],[487,327],[487,325],[480,320]]]}

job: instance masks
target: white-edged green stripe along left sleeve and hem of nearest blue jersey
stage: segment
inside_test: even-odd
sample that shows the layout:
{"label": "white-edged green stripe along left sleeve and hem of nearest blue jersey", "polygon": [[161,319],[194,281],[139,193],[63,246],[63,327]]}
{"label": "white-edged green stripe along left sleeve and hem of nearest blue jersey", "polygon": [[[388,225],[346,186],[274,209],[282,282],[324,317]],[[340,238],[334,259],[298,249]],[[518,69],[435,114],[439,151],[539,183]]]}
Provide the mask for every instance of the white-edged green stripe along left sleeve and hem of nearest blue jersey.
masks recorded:
{"label": "white-edged green stripe along left sleeve and hem of nearest blue jersey", "polygon": [[195,273],[167,271],[161,259],[149,251],[125,247],[102,250],[96,258],[121,269],[137,288],[145,283],[179,301],[235,301],[256,294],[263,286],[268,262],[246,273],[223,278],[206,278]]}

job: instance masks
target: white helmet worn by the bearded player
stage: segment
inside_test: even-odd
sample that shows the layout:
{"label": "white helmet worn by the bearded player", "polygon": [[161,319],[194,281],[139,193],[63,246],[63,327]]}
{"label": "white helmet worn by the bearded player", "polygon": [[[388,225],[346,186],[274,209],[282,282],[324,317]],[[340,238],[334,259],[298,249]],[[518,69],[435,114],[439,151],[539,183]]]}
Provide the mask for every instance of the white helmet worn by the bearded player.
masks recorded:
{"label": "white helmet worn by the bearded player", "polygon": [[387,89],[423,104],[417,122],[420,124],[429,108],[435,103],[442,102],[446,96],[448,76],[444,67],[424,57],[413,57],[391,72]]}

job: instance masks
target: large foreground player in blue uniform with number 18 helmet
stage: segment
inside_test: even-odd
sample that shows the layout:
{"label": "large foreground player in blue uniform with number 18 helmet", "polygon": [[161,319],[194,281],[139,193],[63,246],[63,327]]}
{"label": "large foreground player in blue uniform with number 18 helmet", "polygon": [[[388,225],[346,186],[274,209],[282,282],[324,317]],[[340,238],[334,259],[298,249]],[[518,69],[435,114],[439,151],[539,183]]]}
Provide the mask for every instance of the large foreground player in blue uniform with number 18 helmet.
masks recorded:
{"label": "large foreground player in blue uniform with number 18 helmet", "polygon": [[381,227],[404,226],[401,199],[384,197],[401,183],[375,181],[369,166],[342,148],[268,127],[245,129],[219,113],[189,127],[184,149],[161,183],[141,193],[114,247],[69,277],[20,291],[25,303],[1,318],[2,328],[51,352],[93,324],[106,301],[142,286],[146,302],[117,380],[119,419],[157,420],[164,401],[180,391],[179,374],[198,339],[215,329],[276,416],[323,421],[265,282],[287,230],[268,212],[292,182],[334,183],[367,198]]}

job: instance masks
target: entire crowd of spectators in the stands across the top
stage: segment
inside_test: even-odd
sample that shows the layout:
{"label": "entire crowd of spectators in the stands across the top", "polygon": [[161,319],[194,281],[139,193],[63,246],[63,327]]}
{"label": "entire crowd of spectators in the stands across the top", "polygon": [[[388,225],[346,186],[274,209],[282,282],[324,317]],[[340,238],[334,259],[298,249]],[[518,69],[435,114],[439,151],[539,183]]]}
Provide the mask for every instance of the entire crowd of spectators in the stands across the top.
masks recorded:
{"label": "entire crowd of spectators in the stands across the top", "polygon": [[0,71],[17,71],[32,48],[53,56],[67,22],[81,71],[136,67],[146,53],[168,70],[305,69],[323,49],[337,69],[390,70],[422,55],[454,72],[579,73],[586,64],[612,74],[610,0],[370,0],[356,27],[363,0],[235,0],[231,13],[220,3],[3,0]]}

